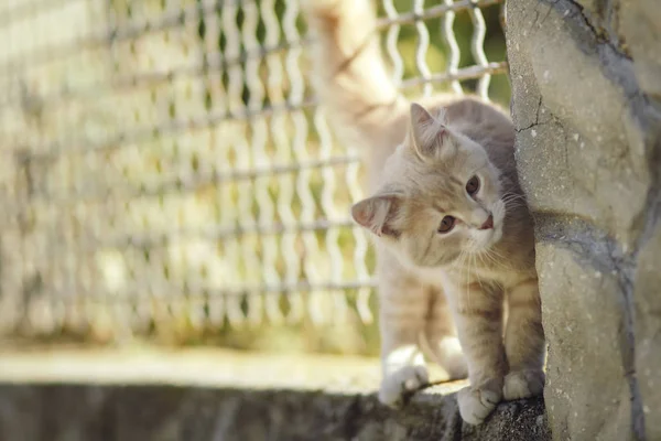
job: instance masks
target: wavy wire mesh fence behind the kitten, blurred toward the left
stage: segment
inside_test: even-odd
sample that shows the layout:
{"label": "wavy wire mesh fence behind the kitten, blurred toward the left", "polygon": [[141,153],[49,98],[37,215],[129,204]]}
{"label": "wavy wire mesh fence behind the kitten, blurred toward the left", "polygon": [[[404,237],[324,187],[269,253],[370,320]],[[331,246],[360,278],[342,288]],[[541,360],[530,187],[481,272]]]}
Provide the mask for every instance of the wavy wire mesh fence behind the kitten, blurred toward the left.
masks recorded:
{"label": "wavy wire mesh fence behind the kitten, blurred toward the left", "polygon": [[[383,0],[393,80],[507,104],[500,2]],[[317,107],[297,1],[2,3],[2,335],[367,351],[359,152]]]}

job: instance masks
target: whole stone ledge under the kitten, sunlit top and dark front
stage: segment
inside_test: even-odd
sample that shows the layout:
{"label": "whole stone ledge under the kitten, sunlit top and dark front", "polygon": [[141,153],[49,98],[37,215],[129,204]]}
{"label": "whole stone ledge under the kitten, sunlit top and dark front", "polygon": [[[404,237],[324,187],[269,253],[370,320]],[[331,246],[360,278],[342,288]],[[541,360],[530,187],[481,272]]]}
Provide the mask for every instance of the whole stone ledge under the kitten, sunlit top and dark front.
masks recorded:
{"label": "whole stone ledge under the kitten, sunlit top and dark front", "polygon": [[0,366],[0,440],[551,439],[541,399],[502,404],[478,428],[463,423],[454,395],[463,383],[388,409],[371,392],[378,362],[365,358],[4,352]]}

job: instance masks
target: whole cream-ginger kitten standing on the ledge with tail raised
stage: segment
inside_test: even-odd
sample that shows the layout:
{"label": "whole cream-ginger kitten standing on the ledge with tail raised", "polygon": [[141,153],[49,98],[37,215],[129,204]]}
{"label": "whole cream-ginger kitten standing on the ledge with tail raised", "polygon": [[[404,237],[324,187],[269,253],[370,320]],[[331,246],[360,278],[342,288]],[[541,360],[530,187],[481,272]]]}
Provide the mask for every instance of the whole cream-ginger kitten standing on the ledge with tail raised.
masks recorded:
{"label": "whole cream-ginger kitten standing on the ledge with tail raised", "polygon": [[351,215],[377,250],[379,399],[397,406],[427,383],[424,355],[448,378],[468,376],[457,400],[473,424],[502,399],[541,394],[534,238],[509,117],[477,98],[408,103],[388,78],[369,0],[306,0],[304,10],[322,104],[367,153],[372,195]]}

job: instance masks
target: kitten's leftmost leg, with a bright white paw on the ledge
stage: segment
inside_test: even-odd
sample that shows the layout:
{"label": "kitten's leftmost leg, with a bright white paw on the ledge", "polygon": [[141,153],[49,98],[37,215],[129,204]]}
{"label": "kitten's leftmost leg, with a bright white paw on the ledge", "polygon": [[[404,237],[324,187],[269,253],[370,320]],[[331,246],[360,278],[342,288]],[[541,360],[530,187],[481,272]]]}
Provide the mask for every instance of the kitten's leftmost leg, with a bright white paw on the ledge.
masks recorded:
{"label": "kitten's leftmost leg, with a bright white paw on the ledge", "polygon": [[379,400],[391,407],[429,381],[419,346],[427,300],[424,287],[395,265],[379,275],[382,380]]}

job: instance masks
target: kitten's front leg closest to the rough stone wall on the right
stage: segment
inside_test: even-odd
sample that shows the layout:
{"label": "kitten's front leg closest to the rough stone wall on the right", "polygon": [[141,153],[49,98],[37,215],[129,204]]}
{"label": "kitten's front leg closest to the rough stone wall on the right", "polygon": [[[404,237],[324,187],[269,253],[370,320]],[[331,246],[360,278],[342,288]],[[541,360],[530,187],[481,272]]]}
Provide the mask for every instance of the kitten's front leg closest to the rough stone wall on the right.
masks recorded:
{"label": "kitten's front leg closest to the rough stone wall on the right", "polygon": [[505,349],[510,372],[502,395],[506,400],[533,397],[544,390],[544,330],[538,279],[508,288],[507,300]]}

